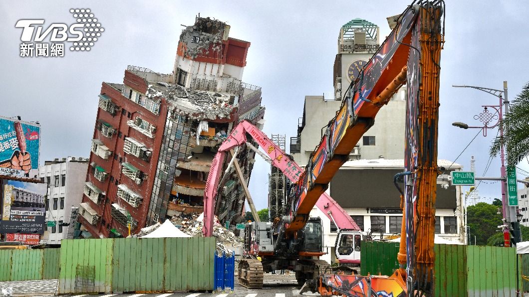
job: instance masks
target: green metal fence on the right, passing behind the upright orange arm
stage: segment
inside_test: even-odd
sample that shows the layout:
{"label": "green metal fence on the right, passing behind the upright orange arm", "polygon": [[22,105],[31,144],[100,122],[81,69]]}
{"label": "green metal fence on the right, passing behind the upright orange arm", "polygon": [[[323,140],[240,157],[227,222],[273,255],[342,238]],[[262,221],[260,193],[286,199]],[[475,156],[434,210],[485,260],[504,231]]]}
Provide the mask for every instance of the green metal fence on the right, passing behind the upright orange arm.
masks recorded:
{"label": "green metal fence on the right, passing behind the upright orange arm", "polygon": [[[362,242],[361,274],[393,274],[398,245]],[[521,280],[524,269],[529,274],[529,257],[517,267],[515,248],[435,244],[434,253],[435,296],[516,296],[517,286],[529,289]]]}

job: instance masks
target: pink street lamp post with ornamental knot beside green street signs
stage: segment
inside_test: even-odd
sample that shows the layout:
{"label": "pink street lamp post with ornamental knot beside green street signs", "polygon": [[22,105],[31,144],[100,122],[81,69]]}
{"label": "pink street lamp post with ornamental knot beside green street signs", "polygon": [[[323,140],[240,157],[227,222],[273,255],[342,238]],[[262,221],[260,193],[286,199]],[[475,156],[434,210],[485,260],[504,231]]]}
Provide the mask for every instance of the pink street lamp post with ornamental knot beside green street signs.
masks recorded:
{"label": "pink street lamp post with ornamental knot beside green street signs", "polygon": [[[479,115],[474,116],[474,118],[478,119],[481,123],[484,124],[484,126],[481,126],[481,127],[468,126],[467,124],[460,123],[460,122],[453,123],[452,124],[453,126],[460,127],[460,128],[463,128],[463,129],[481,128],[481,129],[483,129],[483,136],[487,136],[487,129],[496,127],[500,123],[500,121],[503,119],[503,115],[504,115],[503,109],[505,109],[505,115],[507,115],[508,112],[509,112],[509,100],[508,100],[508,97],[507,97],[507,81],[503,82],[503,90],[484,88],[484,87],[476,87],[476,86],[456,86],[456,85],[452,85],[452,87],[473,88],[473,89],[477,89],[477,90],[480,90],[480,91],[487,92],[487,93],[499,98],[499,105],[482,105],[482,107],[484,107],[484,111],[482,113],[480,113]],[[499,117],[496,117],[496,113],[494,113],[494,114],[490,113],[488,111],[488,108],[495,109],[496,113],[499,115]],[[496,124],[492,125],[492,126],[489,126],[490,121],[492,119],[496,119],[496,118],[498,119],[498,122]],[[499,133],[500,133],[500,137],[503,138],[504,134],[503,134],[503,128],[501,128],[501,126],[499,127]],[[503,144],[501,144],[501,147],[500,147],[500,159],[501,159],[501,168],[500,168],[501,177],[505,178],[506,177],[505,150],[504,150],[504,145]],[[510,225],[512,226],[512,228],[514,230],[513,233],[516,235],[515,240],[516,240],[516,242],[519,242],[519,240],[520,240],[519,235],[521,233],[520,233],[520,229],[519,229],[520,228],[519,227],[519,223],[518,223],[518,221],[516,219],[516,207],[515,206],[508,206],[508,201],[507,201],[507,181],[506,180],[503,180],[501,182],[501,203],[503,205],[503,220],[505,222],[509,222],[510,223]],[[509,230],[508,224],[506,224],[506,226],[504,227],[503,233],[504,233],[505,246],[510,246],[511,245],[510,244],[510,230]]]}

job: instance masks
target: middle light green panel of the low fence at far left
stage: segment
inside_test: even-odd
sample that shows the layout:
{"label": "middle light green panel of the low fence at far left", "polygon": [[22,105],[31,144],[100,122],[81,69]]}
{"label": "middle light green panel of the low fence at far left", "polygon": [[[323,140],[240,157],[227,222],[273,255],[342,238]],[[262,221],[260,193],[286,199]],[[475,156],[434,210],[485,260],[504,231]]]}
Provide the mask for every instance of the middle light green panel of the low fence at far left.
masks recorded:
{"label": "middle light green panel of the low fence at far left", "polygon": [[13,250],[10,281],[42,280],[42,254],[42,249]]}

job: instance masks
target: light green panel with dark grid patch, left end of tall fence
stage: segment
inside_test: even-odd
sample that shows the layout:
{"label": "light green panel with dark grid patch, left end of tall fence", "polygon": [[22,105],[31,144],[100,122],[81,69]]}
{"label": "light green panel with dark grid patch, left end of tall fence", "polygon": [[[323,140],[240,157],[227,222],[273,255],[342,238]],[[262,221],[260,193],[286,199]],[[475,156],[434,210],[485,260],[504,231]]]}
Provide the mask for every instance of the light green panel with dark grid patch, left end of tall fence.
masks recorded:
{"label": "light green panel with dark grid patch, left end of tall fence", "polygon": [[59,293],[112,291],[114,239],[61,240]]}

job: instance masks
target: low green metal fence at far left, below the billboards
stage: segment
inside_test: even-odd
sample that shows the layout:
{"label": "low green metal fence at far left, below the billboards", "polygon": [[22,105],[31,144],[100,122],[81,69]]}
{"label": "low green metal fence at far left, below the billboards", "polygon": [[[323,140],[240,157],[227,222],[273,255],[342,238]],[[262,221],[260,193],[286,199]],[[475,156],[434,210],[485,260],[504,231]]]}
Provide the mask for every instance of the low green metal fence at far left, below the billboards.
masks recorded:
{"label": "low green metal fence at far left, below the billboards", "polygon": [[0,282],[58,279],[59,250],[0,249]]}

